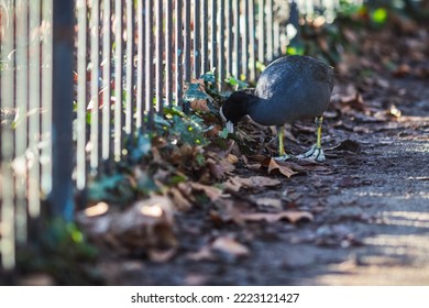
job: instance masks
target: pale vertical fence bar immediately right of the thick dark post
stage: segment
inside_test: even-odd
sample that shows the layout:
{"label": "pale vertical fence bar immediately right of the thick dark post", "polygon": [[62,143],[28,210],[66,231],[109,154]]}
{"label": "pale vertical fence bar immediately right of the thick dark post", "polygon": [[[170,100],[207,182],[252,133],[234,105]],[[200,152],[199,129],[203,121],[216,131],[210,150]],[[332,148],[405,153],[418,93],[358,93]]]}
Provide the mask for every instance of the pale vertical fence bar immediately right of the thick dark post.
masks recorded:
{"label": "pale vertical fence bar immediately right of the thick dark post", "polygon": [[86,101],[87,101],[87,6],[78,0],[77,9],[77,121],[76,121],[76,187],[82,190],[86,185]]}

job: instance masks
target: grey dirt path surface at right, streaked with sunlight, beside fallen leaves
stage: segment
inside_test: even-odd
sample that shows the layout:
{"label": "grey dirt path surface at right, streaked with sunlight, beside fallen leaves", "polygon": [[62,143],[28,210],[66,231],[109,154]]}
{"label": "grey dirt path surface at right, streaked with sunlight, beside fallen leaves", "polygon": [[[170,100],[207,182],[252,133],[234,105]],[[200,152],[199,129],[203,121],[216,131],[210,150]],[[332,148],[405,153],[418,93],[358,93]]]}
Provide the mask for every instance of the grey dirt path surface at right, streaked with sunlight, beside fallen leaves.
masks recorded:
{"label": "grey dirt path surface at right, streaked with sunlight, beside fallen leaves", "polygon": [[[371,123],[370,132],[344,132],[361,150],[326,151],[323,166],[329,172],[282,179],[280,187],[248,196],[285,200],[311,212],[312,221],[226,226],[216,231],[245,243],[250,253],[244,257],[227,253],[195,261],[182,253],[167,263],[128,260],[119,267],[112,260],[103,264],[110,284],[429,284],[429,117],[421,117],[429,111],[428,88],[418,96],[425,105],[414,106],[397,122]],[[329,139],[336,144],[343,136]],[[238,172],[251,176],[249,170]],[[213,237],[211,228],[217,227],[205,220],[204,210],[179,218],[180,251],[198,251]]]}

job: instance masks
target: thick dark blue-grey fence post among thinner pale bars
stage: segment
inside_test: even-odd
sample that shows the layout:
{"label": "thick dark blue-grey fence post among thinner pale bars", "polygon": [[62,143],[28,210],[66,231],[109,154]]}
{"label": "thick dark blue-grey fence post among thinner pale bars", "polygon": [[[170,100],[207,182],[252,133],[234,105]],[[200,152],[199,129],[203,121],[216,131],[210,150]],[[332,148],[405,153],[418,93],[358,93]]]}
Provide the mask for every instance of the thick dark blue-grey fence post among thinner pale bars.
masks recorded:
{"label": "thick dark blue-grey fence post among thinner pale bars", "polygon": [[74,218],[72,183],[72,114],[74,0],[53,2],[53,102],[51,212],[67,221]]}

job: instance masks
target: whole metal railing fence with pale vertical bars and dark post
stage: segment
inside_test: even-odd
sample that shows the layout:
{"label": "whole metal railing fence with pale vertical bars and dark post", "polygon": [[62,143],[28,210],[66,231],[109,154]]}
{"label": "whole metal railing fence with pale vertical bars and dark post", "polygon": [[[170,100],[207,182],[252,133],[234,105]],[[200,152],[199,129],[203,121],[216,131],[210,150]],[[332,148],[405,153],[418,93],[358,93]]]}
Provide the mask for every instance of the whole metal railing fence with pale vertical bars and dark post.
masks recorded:
{"label": "whole metal railing fence with pale vertical bars and dark post", "polygon": [[193,78],[254,80],[298,10],[329,19],[338,2],[0,0],[2,267],[41,213],[73,220],[88,174],[121,161],[163,108],[186,107]]}

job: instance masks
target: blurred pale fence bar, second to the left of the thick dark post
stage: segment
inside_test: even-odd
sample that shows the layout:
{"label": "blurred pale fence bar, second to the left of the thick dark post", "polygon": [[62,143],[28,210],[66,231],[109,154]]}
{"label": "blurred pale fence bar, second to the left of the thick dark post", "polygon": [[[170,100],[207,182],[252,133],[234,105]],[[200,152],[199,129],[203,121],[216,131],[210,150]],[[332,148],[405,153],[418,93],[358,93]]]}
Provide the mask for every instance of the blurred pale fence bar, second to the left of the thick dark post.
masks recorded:
{"label": "blurred pale fence bar, second to the left of the thick dark post", "polygon": [[32,114],[29,117],[29,147],[30,151],[30,164],[32,165],[29,170],[29,213],[32,218],[40,215],[40,155],[38,155],[38,141],[41,132],[41,1],[34,0],[30,2],[29,12],[29,26],[30,26],[30,44],[29,62],[30,62],[30,75],[29,75],[29,112]]}

